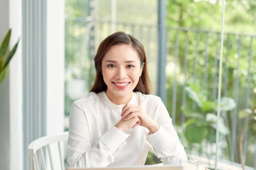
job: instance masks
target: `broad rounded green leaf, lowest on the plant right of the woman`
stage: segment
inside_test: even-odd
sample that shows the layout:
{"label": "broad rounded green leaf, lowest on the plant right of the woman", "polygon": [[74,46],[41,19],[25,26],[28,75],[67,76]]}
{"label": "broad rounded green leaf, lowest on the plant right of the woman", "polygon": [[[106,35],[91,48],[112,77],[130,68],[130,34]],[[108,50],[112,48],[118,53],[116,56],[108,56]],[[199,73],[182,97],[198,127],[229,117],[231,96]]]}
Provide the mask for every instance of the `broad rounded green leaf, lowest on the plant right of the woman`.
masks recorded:
{"label": "broad rounded green leaf, lowest on the plant right of the woman", "polygon": [[184,134],[189,142],[201,143],[207,136],[207,128],[205,126],[197,126],[196,123],[193,123],[186,126]]}

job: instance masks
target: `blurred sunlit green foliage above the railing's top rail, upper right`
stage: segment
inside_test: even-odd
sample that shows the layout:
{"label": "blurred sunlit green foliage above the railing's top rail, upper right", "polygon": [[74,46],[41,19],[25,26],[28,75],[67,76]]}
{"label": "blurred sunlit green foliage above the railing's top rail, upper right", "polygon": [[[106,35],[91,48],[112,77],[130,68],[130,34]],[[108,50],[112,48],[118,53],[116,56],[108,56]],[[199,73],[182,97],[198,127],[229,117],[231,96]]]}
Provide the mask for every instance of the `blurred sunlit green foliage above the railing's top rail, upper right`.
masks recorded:
{"label": "blurred sunlit green foliage above the railing's top rail, upper right", "polygon": [[[254,0],[226,0],[225,31],[255,34]],[[167,0],[167,25],[220,31],[222,2]]]}

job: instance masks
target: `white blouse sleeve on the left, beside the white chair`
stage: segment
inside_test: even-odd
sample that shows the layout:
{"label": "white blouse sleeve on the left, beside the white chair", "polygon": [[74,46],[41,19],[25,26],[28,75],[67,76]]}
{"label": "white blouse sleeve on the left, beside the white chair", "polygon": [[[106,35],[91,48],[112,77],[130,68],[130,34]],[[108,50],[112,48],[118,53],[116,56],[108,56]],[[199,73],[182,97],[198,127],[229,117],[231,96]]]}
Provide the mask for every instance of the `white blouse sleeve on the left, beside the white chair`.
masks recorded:
{"label": "white blouse sleeve on the left, beside the white chair", "polygon": [[[79,102],[70,109],[67,162],[71,167],[106,167],[114,162],[118,149],[129,136],[113,126],[99,137],[95,146],[90,142],[86,114]],[[94,135],[94,134],[92,134]]]}

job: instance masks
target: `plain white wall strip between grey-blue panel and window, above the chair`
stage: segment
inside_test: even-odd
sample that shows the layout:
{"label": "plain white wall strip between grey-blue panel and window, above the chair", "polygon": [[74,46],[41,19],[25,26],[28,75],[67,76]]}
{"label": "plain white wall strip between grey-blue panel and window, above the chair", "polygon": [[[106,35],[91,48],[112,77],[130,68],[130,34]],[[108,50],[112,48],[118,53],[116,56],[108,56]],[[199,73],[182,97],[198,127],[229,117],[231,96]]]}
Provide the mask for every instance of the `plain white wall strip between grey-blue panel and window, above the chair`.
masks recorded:
{"label": "plain white wall strip between grey-blue panel and window, above the chair", "polygon": [[64,131],[64,0],[47,1],[47,135]]}

